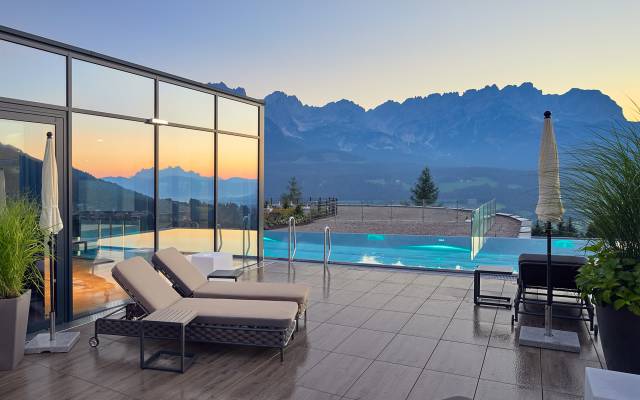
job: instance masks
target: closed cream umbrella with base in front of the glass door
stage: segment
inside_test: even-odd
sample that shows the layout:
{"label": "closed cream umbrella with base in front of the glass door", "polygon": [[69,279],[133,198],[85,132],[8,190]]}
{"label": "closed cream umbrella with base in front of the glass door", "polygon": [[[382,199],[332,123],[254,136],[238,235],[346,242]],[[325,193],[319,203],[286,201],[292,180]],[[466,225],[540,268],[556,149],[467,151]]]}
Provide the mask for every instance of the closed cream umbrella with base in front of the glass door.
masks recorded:
{"label": "closed cream umbrella with base in front of the glass door", "polygon": [[40,212],[40,228],[47,234],[49,242],[49,333],[36,335],[25,347],[25,353],[56,352],[63,353],[71,350],[78,341],[78,332],[56,333],[56,272],[55,272],[55,242],[56,235],[62,230],[62,218],[58,208],[58,166],[56,164],[53,134],[47,132],[47,144],[42,160],[42,210]]}

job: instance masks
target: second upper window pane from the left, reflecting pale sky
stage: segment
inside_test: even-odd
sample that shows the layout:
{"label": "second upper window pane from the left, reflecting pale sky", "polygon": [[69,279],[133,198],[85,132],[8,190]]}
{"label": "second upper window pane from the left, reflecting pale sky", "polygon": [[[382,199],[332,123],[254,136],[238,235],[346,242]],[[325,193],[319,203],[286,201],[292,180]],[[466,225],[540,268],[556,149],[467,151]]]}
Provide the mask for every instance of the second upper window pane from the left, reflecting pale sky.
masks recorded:
{"label": "second upper window pane from the left, reflecting pale sky", "polygon": [[76,59],[72,71],[73,107],[153,117],[153,79]]}

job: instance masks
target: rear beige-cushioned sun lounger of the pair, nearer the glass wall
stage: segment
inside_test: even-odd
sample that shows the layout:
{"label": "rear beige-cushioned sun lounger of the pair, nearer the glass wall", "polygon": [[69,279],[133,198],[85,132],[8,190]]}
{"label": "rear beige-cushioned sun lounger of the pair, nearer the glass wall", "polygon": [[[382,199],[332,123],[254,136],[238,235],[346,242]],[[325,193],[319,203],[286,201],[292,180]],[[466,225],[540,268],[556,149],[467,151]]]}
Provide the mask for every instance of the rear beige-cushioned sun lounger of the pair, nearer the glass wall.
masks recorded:
{"label": "rear beige-cushioned sun lounger of the pair, nearer the glass wall", "polygon": [[208,281],[198,268],[177,249],[170,247],[153,255],[152,263],[184,297],[293,301],[298,304],[298,315],[306,317],[309,287],[291,283],[265,282],[213,282]]}

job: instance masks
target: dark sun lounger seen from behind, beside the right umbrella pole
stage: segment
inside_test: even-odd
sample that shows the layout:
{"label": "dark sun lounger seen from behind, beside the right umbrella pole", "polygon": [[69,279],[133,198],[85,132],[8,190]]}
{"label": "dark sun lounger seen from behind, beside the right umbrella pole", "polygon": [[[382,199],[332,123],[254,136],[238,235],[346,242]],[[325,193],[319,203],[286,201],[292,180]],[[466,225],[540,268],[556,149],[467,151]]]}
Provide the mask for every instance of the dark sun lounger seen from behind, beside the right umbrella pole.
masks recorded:
{"label": "dark sun lounger seen from behind, beside the right umbrella pole", "polygon": [[[551,256],[553,306],[558,306],[558,309],[565,311],[564,313],[554,312],[553,317],[588,321],[589,328],[593,331],[593,305],[588,299],[583,300],[580,297],[576,286],[578,270],[586,261],[584,257]],[[542,306],[546,304],[546,293],[547,255],[521,254],[518,258],[518,289],[514,299],[512,323],[518,321],[519,314],[544,315]],[[534,310],[536,306],[538,311]],[[586,317],[583,316],[583,311],[587,311]],[[597,327],[595,332],[597,334]]]}

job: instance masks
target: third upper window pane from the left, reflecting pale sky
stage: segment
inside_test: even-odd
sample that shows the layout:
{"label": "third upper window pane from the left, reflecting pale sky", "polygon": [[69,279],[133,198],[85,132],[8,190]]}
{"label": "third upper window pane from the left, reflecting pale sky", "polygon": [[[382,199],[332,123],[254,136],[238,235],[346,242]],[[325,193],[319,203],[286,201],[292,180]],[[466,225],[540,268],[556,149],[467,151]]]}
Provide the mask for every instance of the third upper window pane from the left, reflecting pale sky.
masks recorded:
{"label": "third upper window pane from the left, reflecting pale sky", "polygon": [[215,97],[160,82],[160,119],[183,125],[214,128]]}

